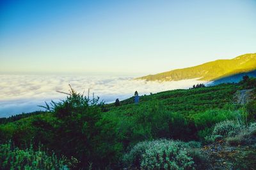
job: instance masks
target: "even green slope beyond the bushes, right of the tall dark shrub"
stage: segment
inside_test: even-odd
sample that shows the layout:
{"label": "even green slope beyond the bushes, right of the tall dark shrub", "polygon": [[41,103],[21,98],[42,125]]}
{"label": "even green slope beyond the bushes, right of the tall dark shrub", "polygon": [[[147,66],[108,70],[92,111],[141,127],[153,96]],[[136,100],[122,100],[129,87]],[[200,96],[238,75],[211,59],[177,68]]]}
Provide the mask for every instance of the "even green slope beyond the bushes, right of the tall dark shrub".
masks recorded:
{"label": "even green slope beyond the bushes, right of the tall dark shrub", "polygon": [[[233,99],[233,94],[237,90],[236,84],[218,85],[189,90],[170,90],[159,92],[150,96],[141,96],[138,107],[147,106],[151,101],[159,101],[168,108],[169,111],[178,112],[184,115],[197,113],[214,108],[223,108]],[[121,106],[115,107],[109,104],[109,113],[119,112],[129,113],[135,105],[133,98],[121,101]]]}

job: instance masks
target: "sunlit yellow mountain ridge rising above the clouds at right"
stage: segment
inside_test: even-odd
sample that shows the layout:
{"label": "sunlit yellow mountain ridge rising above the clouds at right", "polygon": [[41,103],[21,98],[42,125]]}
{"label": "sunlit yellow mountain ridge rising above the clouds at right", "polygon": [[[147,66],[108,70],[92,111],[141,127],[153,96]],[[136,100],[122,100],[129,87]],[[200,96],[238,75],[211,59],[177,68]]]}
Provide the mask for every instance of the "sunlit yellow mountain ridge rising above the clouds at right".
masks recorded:
{"label": "sunlit yellow mountain ridge rising above the clouds at right", "polygon": [[136,78],[147,81],[178,81],[198,78],[198,80],[212,81],[223,76],[244,73],[256,69],[256,53],[247,53],[234,59],[215,60],[194,67],[175,69],[164,73]]}

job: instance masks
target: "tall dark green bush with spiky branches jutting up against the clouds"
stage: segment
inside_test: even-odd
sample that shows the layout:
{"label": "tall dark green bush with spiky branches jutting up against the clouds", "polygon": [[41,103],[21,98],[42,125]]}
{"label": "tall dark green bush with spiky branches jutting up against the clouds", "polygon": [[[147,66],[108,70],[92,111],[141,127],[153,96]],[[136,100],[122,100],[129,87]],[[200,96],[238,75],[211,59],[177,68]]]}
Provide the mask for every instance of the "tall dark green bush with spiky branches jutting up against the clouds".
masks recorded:
{"label": "tall dark green bush with spiky branches jutting up against the clouds", "polygon": [[[65,155],[68,159],[77,159],[79,167],[89,167],[88,162],[93,162],[93,166],[106,166],[108,162],[99,160],[100,153],[95,152],[99,141],[97,134],[100,132],[100,127],[96,124],[100,120],[103,103],[99,103],[99,97],[89,99],[71,86],[69,93],[61,93],[67,94],[65,100],[59,103],[52,101],[51,106],[47,103],[46,106],[42,106],[58,120],[58,126],[52,131],[52,140],[48,148],[57,154]],[[33,124],[44,129],[46,127],[40,120]]]}

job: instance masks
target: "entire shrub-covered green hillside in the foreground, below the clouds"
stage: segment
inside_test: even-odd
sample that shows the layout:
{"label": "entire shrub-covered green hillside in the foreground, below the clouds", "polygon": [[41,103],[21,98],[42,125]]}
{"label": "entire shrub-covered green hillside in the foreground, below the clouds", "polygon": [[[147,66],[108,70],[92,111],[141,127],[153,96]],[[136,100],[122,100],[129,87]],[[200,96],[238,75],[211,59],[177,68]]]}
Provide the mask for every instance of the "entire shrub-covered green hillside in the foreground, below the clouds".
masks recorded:
{"label": "entire shrub-covered green hillside in the foreground, below the clouds", "polygon": [[[227,140],[237,147],[241,145],[237,140],[254,140],[251,136],[256,135],[256,128],[250,122],[256,118],[256,91],[250,90],[253,100],[245,106],[237,104],[234,97],[241,89],[252,89],[255,83],[249,79],[239,84],[170,90],[141,96],[138,104],[134,104],[133,97],[119,104],[88,101],[71,89],[65,101],[53,103],[44,113],[1,121],[1,169],[17,165],[32,169],[161,169],[157,165],[165,169],[209,169],[209,165],[222,161],[208,157],[214,141]],[[225,125],[230,127],[223,128]],[[227,136],[225,129],[232,134]],[[241,129],[246,137],[241,137]],[[243,146],[239,148],[241,155],[233,154],[225,160],[227,168],[255,166],[255,146]],[[221,147],[229,150],[230,146]],[[157,157],[167,162],[151,160]],[[221,167],[226,168],[222,163]]]}

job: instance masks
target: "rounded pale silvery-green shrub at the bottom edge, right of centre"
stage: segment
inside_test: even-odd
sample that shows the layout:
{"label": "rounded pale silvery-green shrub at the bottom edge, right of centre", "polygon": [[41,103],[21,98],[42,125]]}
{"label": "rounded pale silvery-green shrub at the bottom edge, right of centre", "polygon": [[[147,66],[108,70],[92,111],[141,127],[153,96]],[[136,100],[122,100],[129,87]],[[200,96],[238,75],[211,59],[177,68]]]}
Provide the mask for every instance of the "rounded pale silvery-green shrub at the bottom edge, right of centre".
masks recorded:
{"label": "rounded pale silvery-green shrub at the bottom edge, right of centre", "polygon": [[[199,145],[190,143],[195,147]],[[195,162],[190,154],[188,143],[160,139],[145,141],[135,145],[131,151],[124,155],[124,164],[127,167],[138,169],[193,169]]]}

